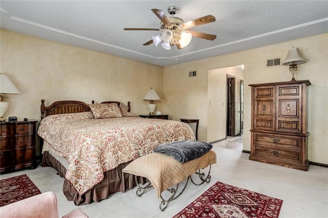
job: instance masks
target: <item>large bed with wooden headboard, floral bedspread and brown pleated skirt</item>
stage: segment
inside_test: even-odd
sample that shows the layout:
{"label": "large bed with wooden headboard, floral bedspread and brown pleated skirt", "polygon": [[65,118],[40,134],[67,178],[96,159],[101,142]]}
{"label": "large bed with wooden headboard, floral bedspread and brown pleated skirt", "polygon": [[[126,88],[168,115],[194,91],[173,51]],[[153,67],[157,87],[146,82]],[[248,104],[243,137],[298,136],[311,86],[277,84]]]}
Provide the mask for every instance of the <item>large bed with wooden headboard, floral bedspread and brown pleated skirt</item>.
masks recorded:
{"label": "large bed with wooden headboard, floral bedspread and brown pleated skirt", "polygon": [[[130,102],[126,106],[118,101],[86,104],[65,100],[46,106],[42,99],[40,109],[42,166],[55,168],[65,179],[64,194],[76,205],[132,189],[134,177],[122,169],[157,145],[195,140],[187,123],[140,118],[130,112]],[[138,180],[142,183],[144,178]]]}

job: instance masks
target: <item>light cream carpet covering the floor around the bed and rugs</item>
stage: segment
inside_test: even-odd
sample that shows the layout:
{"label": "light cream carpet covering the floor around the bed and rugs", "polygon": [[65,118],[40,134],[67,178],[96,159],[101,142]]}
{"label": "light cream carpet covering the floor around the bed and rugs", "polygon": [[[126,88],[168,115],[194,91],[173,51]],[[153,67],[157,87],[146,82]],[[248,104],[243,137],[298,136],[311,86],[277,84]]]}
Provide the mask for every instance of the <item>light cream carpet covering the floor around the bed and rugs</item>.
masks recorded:
{"label": "light cream carpet covering the floor around the bed and rugs", "polygon": [[189,183],[185,192],[160,211],[156,191],[149,189],[136,196],[136,187],[125,193],[117,192],[109,199],[89,205],[75,206],[63,194],[64,179],[50,167],[26,169],[0,175],[9,178],[26,173],[41,192],[53,191],[58,201],[59,217],[75,208],[83,209],[90,217],[173,217],[191,204],[217,181],[282,199],[279,217],[328,217],[328,168],[310,165],[308,171],[265,164],[249,160],[249,154],[212,148],[217,163],[212,165],[211,182],[200,186]]}

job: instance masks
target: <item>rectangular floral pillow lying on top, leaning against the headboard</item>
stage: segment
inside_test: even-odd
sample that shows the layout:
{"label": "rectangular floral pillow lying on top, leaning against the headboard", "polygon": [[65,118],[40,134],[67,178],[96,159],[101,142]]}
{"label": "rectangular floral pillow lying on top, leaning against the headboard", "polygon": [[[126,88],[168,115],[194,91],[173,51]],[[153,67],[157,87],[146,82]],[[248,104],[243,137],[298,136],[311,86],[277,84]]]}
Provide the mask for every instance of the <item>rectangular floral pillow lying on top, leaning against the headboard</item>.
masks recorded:
{"label": "rectangular floral pillow lying on top, leaning against the headboard", "polygon": [[123,117],[116,103],[89,104],[95,119]]}

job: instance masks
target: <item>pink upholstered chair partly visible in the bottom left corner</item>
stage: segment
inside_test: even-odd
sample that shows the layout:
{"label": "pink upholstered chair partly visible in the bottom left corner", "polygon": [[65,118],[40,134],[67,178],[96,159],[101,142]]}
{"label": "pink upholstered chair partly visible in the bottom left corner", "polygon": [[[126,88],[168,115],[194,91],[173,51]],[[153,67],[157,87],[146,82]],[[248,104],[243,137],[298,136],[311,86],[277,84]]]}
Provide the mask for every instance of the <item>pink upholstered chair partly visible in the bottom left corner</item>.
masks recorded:
{"label": "pink upholstered chair partly visible in the bottom left corner", "polygon": [[[0,207],[0,217],[33,217],[33,218],[58,218],[57,200],[52,191],[34,195],[30,198],[17,201]],[[88,218],[81,209],[75,209],[65,218]]]}

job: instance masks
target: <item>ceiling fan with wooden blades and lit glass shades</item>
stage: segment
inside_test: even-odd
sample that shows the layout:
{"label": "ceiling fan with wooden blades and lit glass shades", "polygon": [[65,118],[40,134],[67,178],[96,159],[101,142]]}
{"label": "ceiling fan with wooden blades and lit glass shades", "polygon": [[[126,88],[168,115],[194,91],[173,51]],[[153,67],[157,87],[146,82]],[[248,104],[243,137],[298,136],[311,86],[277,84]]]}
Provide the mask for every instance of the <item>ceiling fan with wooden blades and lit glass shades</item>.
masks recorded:
{"label": "ceiling fan with wooden blades and lit glass shades", "polygon": [[150,30],[150,31],[161,31],[161,34],[153,36],[151,40],[144,43],[144,46],[155,44],[157,47],[158,43],[163,40],[162,47],[164,49],[170,50],[174,46],[178,49],[185,48],[189,45],[192,37],[198,37],[207,40],[216,39],[216,35],[201,33],[189,30],[190,28],[209,24],[215,21],[215,17],[213,15],[206,15],[203,17],[199,17],[197,19],[188,21],[186,23],[179,17],[175,17],[178,12],[178,7],[169,6],[168,12],[171,14],[171,17],[167,17],[162,10],[152,9],[152,12],[156,14],[156,16],[161,21],[161,26],[159,29],[154,28],[124,28],[124,30]]}

